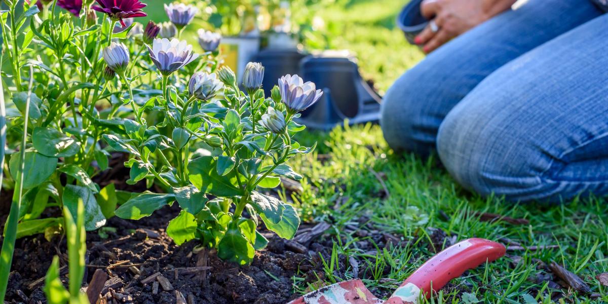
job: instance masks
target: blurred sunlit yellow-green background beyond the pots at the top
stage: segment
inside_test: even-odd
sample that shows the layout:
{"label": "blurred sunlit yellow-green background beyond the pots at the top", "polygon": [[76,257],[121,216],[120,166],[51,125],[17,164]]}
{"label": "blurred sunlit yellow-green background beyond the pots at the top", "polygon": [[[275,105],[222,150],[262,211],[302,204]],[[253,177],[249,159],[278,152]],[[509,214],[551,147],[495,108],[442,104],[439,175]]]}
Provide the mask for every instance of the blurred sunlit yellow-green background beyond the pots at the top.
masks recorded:
{"label": "blurred sunlit yellow-green background beyond the pots at the top", "polygon": [[[148,19],[168,21],[163,4],[171,0],[149,3]],[[196,30],[221,32],[224,36],[241,32],[244,19],[259,7],[258,25],[268,27],[270,18],[279,9],[279,0],[185,0],[199,7],[193,24],[182,38],[196,44]],[[306,52],[337,49],[350,50],[359,60],[365,80],[375,84],[380,94],[406,69],[423,58],[422,52],[410,46],[395,19],[407,0],[292,0],[290,2],[292,32]]]}

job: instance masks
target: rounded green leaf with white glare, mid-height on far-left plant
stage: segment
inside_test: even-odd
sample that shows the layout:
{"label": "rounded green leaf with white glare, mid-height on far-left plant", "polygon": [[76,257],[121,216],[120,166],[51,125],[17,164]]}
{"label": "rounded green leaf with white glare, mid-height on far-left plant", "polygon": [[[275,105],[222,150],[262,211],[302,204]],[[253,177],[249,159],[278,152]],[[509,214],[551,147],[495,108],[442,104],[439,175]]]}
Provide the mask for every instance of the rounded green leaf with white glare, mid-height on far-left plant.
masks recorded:
{"label": "rounded green leaf with white glare, mid-height on far-left plant", "polygon": [[38,153],[49,157],[70,157],[80,150],[80,143],[72,137],[51,128],[37,126],[32,133],[32,143]]}

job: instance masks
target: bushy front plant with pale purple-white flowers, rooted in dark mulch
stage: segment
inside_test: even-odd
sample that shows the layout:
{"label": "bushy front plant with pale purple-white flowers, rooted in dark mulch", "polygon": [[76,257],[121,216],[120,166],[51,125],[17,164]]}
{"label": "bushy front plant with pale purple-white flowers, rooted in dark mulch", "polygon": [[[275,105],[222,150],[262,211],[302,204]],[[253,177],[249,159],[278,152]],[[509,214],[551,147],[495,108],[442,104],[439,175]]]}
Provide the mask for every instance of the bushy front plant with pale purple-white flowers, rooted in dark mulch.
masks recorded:
{"label": "bushy front plant with pale purple-white flowers, rooted in dark mulch", "polygon": [[[104,138],[133,156],[126,163],[131,182],[154,180],[167,190],[134,196],[116,210],[117,216],[139,219],[177,201],[182,211],[167,227],[177,244],[201,240],[218,249],[219,257],[246,264],[267,243],[256,230],[258,215],[282,238],[293,238],[299,227],[291,205],[258,189],[277,187],[280,176],[302,178],[286,162],[314,147],[292,139],[304,129],[293,119],[322,93],[313,83],[287,75],[272,96],[265,97],[264,67],[257,63],[247,65],[246,92],[229,68],[218,74],[219,79],[216,74],[194,74],[184,92],[164,81],[165,94],[156,98],[164,109],[163,120],[155,126],[125,120],[126,136]],[[151,159],[153,153],[161,157]],[[165,153],[172,157],[163,157]]]}

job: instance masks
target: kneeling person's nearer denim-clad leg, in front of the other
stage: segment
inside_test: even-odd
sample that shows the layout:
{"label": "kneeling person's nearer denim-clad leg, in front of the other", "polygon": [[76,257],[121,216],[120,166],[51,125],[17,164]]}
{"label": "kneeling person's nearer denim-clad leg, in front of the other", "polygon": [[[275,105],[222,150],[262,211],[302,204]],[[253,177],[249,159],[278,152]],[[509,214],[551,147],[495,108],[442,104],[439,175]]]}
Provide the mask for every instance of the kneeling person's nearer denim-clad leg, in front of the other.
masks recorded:
{"label": "kneeling person's nearer denim-clad leg, in front of the other", "polygon": [[486,78],[446,117],[438,153],[461,184],[511,200],[608,193],[608,15]]}

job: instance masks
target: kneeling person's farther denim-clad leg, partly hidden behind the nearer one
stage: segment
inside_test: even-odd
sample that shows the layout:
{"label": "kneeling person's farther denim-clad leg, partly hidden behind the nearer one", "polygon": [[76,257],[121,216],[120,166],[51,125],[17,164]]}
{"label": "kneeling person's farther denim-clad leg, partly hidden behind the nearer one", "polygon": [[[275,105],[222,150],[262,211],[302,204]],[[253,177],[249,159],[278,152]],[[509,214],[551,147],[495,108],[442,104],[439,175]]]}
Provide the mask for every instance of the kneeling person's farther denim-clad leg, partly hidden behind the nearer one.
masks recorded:
{"label": "kneeling person's farther denim-clad leg, partly hidden behind the nearer one", "polygon": [[397,150],[429,154],[447,112],[480,81],[600,13],[589,1],[530,0],[440,47],[402,75],[385,95],[381,118],[385,139]]}

